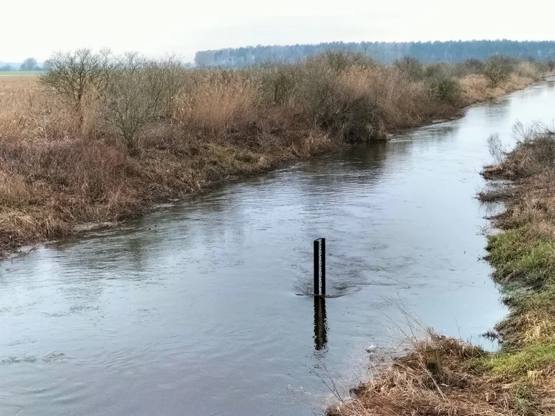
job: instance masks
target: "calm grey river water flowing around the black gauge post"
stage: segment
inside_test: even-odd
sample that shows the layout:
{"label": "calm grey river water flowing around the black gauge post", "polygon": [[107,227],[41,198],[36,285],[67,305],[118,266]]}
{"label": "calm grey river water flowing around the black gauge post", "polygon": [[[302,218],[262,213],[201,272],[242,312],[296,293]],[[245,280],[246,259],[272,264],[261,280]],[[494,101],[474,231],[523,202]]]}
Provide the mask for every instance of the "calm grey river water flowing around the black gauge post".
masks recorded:
{"label": "calm grey river water flowing around the black gauge post", "polygon": [[506,311],[481,260],[486,139],[552,121],[554,85],[3,261],[0,415],[312,415],[321,378],[364,377],[407,313],[490,347]]}

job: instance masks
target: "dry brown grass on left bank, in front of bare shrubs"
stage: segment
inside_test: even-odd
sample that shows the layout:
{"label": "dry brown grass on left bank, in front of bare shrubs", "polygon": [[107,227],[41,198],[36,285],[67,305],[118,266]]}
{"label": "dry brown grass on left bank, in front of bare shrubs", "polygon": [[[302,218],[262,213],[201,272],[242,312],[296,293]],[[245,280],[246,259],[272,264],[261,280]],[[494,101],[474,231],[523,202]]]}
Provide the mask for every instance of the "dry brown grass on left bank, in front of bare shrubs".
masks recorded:
{"label": "dry brown grass on left bank, in front of bare shrubs", "polygon": [[[244,85],[214,94],[199,87],[194,112],[176,106],[179,117],[149,125],[141,155],[131,157],[106,130],[97,103],[85,99],[79,128],[78,116],[36,78],[0,78],[0,250],[62,236],[80,223],[142,214],[230,175],[337,148],[318,129],[294,129],[262,113],[259,126],[245,131],[239,121],[253,120],[252,95]],[[244,129],[230,131],[237,125]]]}

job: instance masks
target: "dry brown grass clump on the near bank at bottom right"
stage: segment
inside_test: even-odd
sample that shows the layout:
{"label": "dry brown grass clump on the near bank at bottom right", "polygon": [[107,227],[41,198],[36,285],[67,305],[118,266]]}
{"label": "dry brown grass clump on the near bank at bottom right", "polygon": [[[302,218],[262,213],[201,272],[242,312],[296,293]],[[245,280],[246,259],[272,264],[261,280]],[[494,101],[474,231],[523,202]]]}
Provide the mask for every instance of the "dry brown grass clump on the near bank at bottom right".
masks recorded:
{"label": "dry brown grass clump on the near bank at bottom right", "polygon": [[[437,349],[441,372],[426,369],[425,349]],[[431,334],[417,342],[408,356],[397,358],[391,368],[360,385],[349,400],[327,409],[329,416],[521,416],[548,409],[538,404],[540,388],[547,387],[549,374],[524,376],[511,383],[492,376],[477,365],[488,353],[452,338]],[[552,384],[552,383],[551,383]]]}

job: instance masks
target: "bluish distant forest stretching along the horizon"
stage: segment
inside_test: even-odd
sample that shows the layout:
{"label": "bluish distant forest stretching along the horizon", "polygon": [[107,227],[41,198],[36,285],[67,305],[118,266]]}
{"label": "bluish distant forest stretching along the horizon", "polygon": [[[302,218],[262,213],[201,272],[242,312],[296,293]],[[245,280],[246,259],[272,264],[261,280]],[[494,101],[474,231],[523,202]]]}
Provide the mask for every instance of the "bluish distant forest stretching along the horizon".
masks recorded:
{"label": "bluish distant forest stretching along the horizon", "polygon": [[244,48],[198,51],[198,66],[246,67],[268,61],[298,62],[325,51],[362,53],[379,62],[392,63],[405,56],[422,62],[485,60],[493,55],[538,60],[555,58],[555,41],[469,40],[448,42],[330,42],[287,46],[246,46]]}

